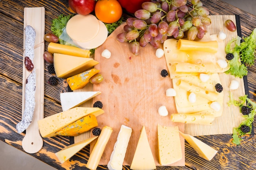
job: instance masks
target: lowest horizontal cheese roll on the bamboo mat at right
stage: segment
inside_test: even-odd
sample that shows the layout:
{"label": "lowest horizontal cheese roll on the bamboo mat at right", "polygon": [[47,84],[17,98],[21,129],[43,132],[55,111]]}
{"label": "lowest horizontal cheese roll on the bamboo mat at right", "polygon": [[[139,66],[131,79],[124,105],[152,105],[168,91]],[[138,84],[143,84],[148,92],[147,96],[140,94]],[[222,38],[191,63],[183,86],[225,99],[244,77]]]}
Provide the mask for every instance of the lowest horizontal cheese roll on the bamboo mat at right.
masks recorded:
{"label": "lowest horizontal cheese roll on the bamboo mat at right", "polygon": [[186,124],[212,125],[214,115],[191,114],[172,114],[171,121]]}

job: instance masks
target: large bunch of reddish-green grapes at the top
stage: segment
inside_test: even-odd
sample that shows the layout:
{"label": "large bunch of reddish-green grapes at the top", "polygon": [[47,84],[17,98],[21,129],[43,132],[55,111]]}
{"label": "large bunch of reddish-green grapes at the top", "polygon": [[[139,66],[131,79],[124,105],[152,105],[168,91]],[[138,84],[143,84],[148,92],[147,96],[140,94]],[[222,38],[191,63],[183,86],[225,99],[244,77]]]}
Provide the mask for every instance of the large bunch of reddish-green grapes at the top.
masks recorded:
{"label": "large bunch of reddish-green grapes at the top", "polygon": [[119,42],[130,42],[132,53],[150,43],[159,48],[167,38],[195,40],[203,38],[211,24],[208,9],[200,0],[152,0],[144,2],[135,18],[128,18],[124,33],[117,35]]}

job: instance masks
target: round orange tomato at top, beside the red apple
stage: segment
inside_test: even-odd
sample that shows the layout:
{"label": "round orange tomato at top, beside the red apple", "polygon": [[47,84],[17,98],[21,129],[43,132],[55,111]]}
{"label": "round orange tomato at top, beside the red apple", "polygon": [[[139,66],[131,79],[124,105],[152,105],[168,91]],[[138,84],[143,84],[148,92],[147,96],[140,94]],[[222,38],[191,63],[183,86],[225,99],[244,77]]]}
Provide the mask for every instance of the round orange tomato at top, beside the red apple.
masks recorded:
{"label": "round orange tomato at top, beside the red apple", "polygon": [[123,13],[117,0],[98,0],[94,11],[99,20],[108,24],[117,22]]}

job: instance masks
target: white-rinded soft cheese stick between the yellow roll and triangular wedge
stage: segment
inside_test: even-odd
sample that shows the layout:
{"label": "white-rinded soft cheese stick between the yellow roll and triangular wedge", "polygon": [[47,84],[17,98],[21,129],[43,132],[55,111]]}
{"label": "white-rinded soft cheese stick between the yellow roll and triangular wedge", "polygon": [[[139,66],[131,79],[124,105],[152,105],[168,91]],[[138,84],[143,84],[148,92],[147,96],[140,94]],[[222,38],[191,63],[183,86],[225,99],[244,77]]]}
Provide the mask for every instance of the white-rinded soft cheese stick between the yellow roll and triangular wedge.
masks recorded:
{"label": "white-rinded soft cheese stick between the yellow roll and triangular wedge", "polygon": [[108,162],[109,170],[122,170],[126,149],[130,140],[132,128],[121,125],[120,131],[117,136],[117,141],[114,145],[113,152]]}

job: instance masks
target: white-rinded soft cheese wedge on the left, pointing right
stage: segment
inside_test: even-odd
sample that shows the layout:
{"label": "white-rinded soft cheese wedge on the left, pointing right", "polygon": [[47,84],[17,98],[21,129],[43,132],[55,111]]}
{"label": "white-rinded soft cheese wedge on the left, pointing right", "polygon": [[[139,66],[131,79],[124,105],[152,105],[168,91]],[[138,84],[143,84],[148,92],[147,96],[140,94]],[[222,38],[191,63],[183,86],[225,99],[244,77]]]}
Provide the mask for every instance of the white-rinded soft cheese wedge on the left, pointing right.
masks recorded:
{"label": "white-rinded soft cheese wedge on the left, pointing right", "polygon": [[60,94],[62,110],[68,110],[83,104],[101,94],[100,91],[79,91],[79,92],[64,92]]}

